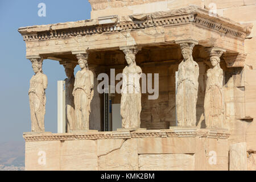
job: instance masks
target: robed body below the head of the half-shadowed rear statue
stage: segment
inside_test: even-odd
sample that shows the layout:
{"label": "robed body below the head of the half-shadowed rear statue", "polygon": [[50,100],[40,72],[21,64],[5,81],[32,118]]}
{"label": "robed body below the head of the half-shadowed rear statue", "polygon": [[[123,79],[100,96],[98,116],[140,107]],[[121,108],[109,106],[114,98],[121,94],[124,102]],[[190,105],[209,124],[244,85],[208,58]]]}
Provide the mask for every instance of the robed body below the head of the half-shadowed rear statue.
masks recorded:
{"label": "robed body below the head of the half-shadowed rear statue", "polygon": [[66,90],[66,131],[73,130],[75,123],[75,103],[72,95],[74,89],[75,77],[65,79],[65,90]]}

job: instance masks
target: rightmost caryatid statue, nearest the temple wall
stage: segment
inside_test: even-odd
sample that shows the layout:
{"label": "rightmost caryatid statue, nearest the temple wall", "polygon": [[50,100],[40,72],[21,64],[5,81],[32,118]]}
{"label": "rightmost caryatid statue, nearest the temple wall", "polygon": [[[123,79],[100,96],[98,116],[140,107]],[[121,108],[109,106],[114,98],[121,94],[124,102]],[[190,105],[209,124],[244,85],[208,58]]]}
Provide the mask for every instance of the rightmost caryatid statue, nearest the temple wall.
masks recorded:
{"label": "rightmost caryatid statue, nearest the temple wall", "polygon": [[222,128],[224,120],[223,70],[220,68],[220,56],[224,49],[210,48],[210,63],[213,68],[207,70],[204,98],[205,124],[208,128]]}

